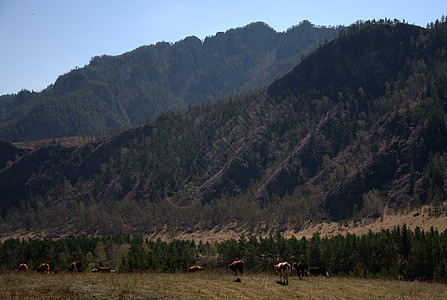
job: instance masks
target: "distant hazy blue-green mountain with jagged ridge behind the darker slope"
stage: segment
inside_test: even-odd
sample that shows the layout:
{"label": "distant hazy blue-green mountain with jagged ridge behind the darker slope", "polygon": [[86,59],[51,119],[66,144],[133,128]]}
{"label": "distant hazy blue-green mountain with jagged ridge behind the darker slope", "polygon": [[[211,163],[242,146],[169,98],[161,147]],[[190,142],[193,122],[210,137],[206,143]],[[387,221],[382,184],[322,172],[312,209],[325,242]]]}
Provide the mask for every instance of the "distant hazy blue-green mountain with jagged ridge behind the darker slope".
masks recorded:
{"label": "distant hazy blue-green mountain with jagged ridge behind the darker slope", "polygon": [[40,93],[0,97],[0,139],[94,135],[144,124],[164,111],[266,88],[339,30],[303,21],[276,32],[258,22],[204,41],[192,36],[94,57]]}

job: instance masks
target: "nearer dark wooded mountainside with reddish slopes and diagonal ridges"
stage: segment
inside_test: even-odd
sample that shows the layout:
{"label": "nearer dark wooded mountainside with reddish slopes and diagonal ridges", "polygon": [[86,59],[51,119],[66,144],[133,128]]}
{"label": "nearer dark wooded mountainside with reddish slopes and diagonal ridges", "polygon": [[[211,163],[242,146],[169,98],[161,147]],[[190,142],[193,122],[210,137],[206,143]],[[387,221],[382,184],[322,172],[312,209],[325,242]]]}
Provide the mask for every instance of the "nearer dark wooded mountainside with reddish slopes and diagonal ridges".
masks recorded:
{"label": "nearer dark wooded mountainside with reddish slopes and diagonal ridges", "polygon": [[17,154],[0,170],[2,233],[282,231],[421,205],[439,215],[446,46],[444,21],[359,22],[266,90]]}

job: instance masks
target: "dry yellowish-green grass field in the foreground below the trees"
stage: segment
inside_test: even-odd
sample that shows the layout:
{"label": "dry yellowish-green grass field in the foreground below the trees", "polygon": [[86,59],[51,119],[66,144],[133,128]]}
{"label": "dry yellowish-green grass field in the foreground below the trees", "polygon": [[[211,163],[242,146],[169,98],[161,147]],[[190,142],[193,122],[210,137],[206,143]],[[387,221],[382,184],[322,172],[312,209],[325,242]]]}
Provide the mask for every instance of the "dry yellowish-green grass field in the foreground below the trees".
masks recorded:
{"label": "dry yellowish-green grass field in the foreground below the trees", "polygon": [[445,299],[447,285],[340,277],[289,279],[273,274],[0,274],[0,299]]}

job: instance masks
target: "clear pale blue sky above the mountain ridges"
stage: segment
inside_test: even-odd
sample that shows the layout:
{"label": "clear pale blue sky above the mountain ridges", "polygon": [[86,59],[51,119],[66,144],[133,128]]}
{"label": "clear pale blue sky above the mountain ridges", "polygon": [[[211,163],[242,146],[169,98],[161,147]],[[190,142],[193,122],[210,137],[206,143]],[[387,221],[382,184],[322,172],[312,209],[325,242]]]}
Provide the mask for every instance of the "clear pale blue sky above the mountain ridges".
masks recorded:
{"label": "clear pale blue sky above the mountain ridges", "polygon": [[445,0],[0,0],[0,95],[40,91],[93,56],[204,39],[256,21],[276,31],[302,20],[335,26],[396,18],[425,27],[446,14]]}

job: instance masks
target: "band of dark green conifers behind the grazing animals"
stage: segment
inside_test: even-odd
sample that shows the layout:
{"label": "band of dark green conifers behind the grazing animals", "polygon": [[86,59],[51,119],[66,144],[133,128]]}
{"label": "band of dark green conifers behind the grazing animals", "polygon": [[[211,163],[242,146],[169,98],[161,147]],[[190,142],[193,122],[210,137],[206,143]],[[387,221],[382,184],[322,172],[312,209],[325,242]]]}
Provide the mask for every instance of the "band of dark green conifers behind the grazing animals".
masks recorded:
{"label": "band of dark green conifers behind the grazing animals", "polygon": [[207,271],[225,269],[236,259],[245,261],[248,273],[273,272],[273,265],[305,261],[325,266],[332,276],[447,282],[447,231],[405,225],[393,230],[356,236],[347,234],[310,239],[240,236],[222,242],[193,240],[153,241],[141,235],[8,239],[0,243],[0,268],[15,270],[26,263],[31,270],[47,262],[66,271],[81,260],[85,269],[109,266],[119,272],[186,272],[192,265]]}

